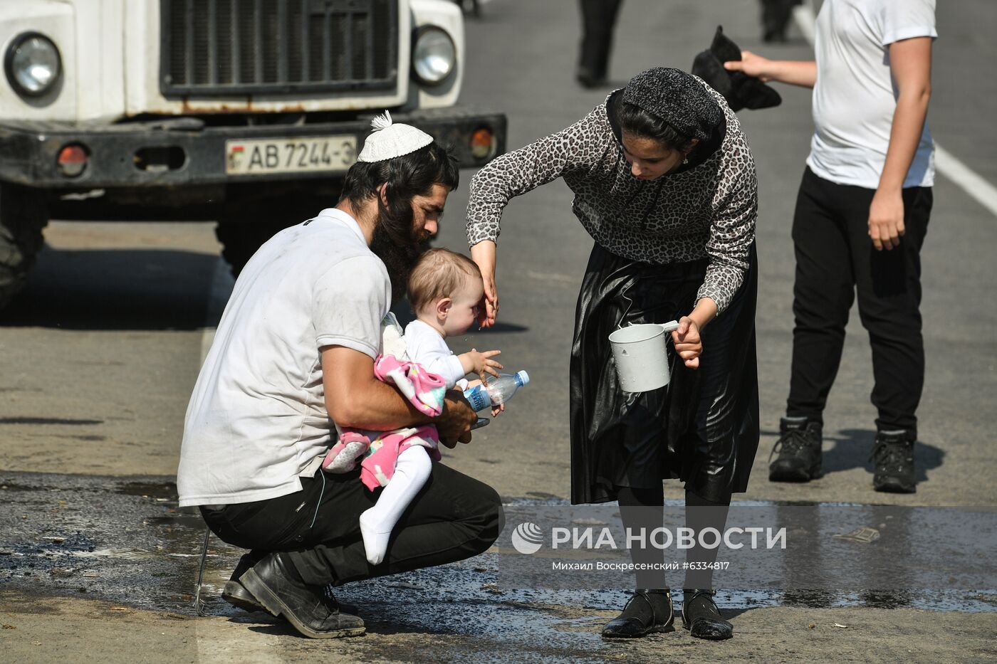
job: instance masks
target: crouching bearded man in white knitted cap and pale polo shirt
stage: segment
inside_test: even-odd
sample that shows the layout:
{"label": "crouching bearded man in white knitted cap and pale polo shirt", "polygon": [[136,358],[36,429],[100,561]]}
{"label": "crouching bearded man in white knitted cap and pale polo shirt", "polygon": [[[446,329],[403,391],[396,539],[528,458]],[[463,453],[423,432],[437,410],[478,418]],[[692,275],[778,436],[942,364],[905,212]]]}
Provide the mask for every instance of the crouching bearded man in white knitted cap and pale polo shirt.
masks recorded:
{"label": "crouching bearded man in white knitted cap and pale polo shirt", "polygon": [[199,506],[218,537],[251,549],[223,596],[312,638],[364,631],[327,584],[476,555],[503,521],[493,489],[436,464],[372,565],[358,519],[380,492],[359,470],[318,472],[333,422],[435,424],[454,447],[470,442],[477,420],[460,393],[431,418],[374,376],[381,321],[459,176],[429,135],[390,118],[381,127],[336,207],[277,233],[239,275],[190,397],[176,474],[180,506]]}

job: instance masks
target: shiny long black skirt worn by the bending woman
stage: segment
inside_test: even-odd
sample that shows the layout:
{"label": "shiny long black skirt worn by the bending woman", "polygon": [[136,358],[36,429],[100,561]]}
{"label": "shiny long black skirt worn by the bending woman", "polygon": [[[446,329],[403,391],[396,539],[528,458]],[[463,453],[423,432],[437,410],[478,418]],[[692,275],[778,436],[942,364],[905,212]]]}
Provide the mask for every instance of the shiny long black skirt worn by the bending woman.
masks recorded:
{"label": "shiny long black skirt worn by the bending woman", "polygon": [[753,246],[744,283],[703,330],[699,368],[687,368],[669,340],[670,383],[631,393],[620,389],[609,333],[688,315],[707,260],[651,265],[595,245],[571,345],[572,503],[614,500],[616,487],[668,478],[715,501],[748,489],[759,441],[756,263]]}

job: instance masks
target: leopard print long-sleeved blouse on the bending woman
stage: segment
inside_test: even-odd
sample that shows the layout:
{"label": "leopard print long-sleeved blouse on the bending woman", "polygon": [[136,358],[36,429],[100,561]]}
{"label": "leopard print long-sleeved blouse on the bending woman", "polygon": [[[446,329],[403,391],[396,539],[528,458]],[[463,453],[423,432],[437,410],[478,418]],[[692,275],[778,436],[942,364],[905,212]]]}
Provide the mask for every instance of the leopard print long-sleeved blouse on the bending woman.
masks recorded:
{"label": "leopard print long-sleeved blouse on the bending woman", "polygon": [[478,171],[468,202],[469,243],[498,238],[510,198],[563,177],[574,192],[571,211],[608,251],[654,264],[708,256],[697,300],[709,297],[724,311],[748,270],[758,180],[737,116],[719,93],[707,90],[723,110],[727,129],[720,148],[702,164],[652,180],[634,177],[609,124],[610,95],[571,127]]}

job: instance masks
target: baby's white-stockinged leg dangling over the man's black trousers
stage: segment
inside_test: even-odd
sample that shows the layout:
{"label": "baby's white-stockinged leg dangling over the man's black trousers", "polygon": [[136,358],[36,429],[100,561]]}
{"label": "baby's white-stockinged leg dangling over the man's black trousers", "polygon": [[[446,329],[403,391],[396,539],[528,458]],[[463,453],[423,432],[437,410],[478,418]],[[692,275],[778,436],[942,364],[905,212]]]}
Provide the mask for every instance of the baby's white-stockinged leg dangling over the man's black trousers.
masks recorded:
{"label": "baby's white-stockinged leg dangling over the man's black trousers", "polygon": [[377,504],[360,514],[360,533],[364,536],[367,561],[372,565],[384,560],[392,529],[432,471],[433,462],[426,448],[413,445],[398,456],[395,474],[381,492]]}

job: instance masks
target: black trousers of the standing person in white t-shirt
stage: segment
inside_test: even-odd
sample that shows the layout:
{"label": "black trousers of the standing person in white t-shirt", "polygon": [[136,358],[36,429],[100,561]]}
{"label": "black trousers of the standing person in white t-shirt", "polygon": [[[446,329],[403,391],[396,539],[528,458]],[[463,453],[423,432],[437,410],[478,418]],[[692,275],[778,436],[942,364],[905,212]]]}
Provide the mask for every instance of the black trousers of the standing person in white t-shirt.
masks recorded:
{"label": "black trousers of the standing person in white t-shirt", "polygon": [[879,431],[909,431],[924,385],[920,249],[931,213],[930,187],[903,189],[900,245],[876,251],[868,236],[873,189],[835,184],[807,168],[797,198],[793,243],[793,369],[786,413],[822,421],[844,345],[848,310],[872,347],[872,405]]}

